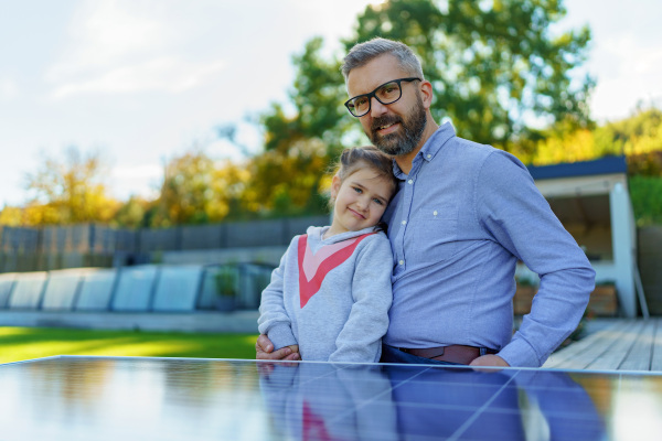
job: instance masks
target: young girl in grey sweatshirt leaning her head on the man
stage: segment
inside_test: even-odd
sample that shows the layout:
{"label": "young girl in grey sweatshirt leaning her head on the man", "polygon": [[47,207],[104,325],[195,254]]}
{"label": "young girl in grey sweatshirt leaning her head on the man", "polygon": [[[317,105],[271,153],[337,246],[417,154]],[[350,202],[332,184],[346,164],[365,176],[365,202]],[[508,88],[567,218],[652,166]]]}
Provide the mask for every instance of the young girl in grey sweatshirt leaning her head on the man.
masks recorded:
{"label": "young girl in grey sweatshirt leaning her head on the man", "polygon": [[392,160],[346,149],[331,183],[333,220],[295,236],[263,291],[257,321],[303,361],[376,363],[388,327],[393,256],[377,226],[395,193]]}

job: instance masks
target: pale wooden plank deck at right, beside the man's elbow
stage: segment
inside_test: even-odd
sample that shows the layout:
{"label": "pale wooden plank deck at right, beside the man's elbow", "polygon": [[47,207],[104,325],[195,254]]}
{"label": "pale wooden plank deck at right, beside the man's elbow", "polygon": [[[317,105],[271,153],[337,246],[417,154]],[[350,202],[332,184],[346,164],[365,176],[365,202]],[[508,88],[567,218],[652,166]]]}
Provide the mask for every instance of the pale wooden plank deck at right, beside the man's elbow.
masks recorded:
{"label": "pale wooden plank deck at right, beside the man's elbow", "polygon": [[552,354],[545,368],[662,373],[662,318],[602,319],[590,333]]}

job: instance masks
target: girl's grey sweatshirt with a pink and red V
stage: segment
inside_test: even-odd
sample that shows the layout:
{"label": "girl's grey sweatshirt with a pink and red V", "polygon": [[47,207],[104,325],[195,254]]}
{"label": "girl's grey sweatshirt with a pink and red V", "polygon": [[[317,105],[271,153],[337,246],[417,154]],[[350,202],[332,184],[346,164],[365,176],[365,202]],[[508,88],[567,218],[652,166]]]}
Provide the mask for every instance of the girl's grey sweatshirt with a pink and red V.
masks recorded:
{"label": "girl's grey sweatshirt with a pink and red V", "polygon": [[258,329],[303,361],[376,363],[393,300],[393,255],[373,228],[322,240],[329,227],[295,236],[261,293]]}

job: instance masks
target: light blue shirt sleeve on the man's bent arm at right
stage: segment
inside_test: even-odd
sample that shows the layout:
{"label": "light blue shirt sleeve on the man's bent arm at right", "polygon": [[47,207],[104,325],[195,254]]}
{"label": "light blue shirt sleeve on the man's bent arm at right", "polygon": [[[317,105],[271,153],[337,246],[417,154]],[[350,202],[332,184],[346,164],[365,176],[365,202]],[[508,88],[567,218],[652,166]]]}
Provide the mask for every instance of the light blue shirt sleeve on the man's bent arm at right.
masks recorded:
{"label": "light blue shirt sleeve on the man's bent arm at right", "polygon": [[595,271],[515,157],[488,157],[477,192],[483,228],[541,279],[531,313],[499,356],[511,366],[542,366],[577,327]]}

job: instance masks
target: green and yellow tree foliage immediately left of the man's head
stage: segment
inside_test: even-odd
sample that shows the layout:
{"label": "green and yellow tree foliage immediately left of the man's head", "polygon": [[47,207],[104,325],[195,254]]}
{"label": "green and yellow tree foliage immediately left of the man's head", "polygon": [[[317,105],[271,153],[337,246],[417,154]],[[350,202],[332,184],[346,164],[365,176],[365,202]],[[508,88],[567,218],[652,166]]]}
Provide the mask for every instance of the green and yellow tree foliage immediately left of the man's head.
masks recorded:
{"label": "green and yellow tree foliage immediately left of the man's head", "polygon": [[340,60],[324,58],[322,40],[309,41],[292,62],[292,110],[273,104],[263,115],[265,151],[249,163],[254,179],[245,196],[249,211],[260,216],[323,213],[323,174],[342,150],[343,135],[354,129],[341,101],[346,92]]}

